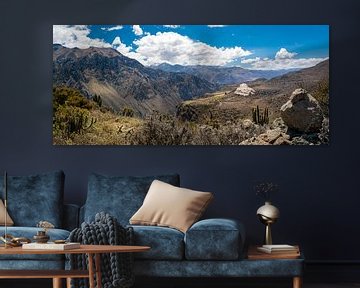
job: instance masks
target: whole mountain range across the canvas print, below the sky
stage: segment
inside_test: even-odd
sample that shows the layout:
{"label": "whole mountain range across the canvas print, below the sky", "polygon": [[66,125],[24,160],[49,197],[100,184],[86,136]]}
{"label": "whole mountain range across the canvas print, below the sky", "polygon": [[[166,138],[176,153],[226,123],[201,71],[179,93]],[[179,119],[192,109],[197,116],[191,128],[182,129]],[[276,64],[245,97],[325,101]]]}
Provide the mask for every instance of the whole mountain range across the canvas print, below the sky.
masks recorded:
{"label": "whole mountain range across the canvas print, below the sky", "polygon": [[[248,107],[250,102],[251,105],[259,102],[278,109],[294,89],[311,88],[328,77],[329,60],[291,72],[164,63],[146,67],[112,48],[53,45],[54,86],[76,88],[89,99],[101,96],[102,102],[114,111],[128,107],[139,116],[149,115],[154,110],[175,113],[184,101],[194,100],[193,105],[197,105],[197,99],[201,102],[202,98],[218,91],[226,91],[222,107]],[[234,94],[243,82],[255,89],[251,96],[255,102]]]}

